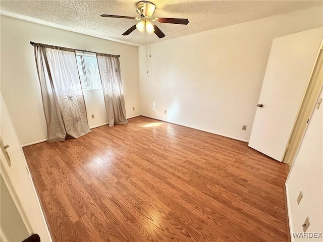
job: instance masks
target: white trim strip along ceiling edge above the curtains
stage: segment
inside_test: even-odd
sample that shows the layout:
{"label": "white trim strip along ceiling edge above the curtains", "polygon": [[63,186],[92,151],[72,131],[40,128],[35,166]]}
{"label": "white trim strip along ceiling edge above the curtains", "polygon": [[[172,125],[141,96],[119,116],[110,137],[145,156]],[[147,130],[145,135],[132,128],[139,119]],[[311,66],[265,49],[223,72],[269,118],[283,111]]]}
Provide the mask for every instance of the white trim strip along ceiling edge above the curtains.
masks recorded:
{"label": "white trim strip along ceiling edge above the curtains", "polygon": [[135,43],[132,43],[132,42],[122,41],[122,40],[119,40],[119,39],[105,37],[103,35],[94,34],[94,33],[91,33],[91,32],[82,31],[82,30],[78,30],[78,29],[75,29],[75,28],[50,23],[50,22],[47,22],[47,21],[27,17],[27,16],[24,16],[24,15],[12,13],[12,12],[5,11],[5,10],[0,10],[0,14],[4,15],[4,16],[15,18],[15,19],[25,20],[25,21],[28,21],[28,22],[41,24],[41,25],[45,25],[45,26],[49,26],[49,27],[53,27],[53,28],[57,28],[57,29],[63,29],[63,30],[74,32],[74,33],[84,34],[84,35],[88,35],[88,36],[92,36],[92,37],[96,37],[96,38],[100,38],[100,39],[110,40],[110,41],[114,41],[114,42],[118,42],[118,43],[122,43],[122,44],[133,45],[133,46],[140,46],[139,44],[135,44]]}

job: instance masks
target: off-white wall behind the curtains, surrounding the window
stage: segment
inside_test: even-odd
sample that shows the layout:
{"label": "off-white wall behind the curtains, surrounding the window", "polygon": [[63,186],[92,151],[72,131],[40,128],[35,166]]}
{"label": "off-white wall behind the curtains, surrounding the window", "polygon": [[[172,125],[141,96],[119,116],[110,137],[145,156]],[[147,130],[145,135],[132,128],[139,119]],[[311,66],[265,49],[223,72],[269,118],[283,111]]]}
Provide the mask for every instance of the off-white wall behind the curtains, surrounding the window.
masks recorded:
{"label": "off-white wall behind the curtains, surrounding the window", "polygon": [[[127,117],[140,114],[137,47],[1,16],[1,92],[22,145],[47,138],[34,50],[29,41],[120,54]],[[95,119],[89,119],[89,126],[106,123],[102,105],[90,99],[96,97],[95,91],[85,92],[87,114],[95,115]]]}

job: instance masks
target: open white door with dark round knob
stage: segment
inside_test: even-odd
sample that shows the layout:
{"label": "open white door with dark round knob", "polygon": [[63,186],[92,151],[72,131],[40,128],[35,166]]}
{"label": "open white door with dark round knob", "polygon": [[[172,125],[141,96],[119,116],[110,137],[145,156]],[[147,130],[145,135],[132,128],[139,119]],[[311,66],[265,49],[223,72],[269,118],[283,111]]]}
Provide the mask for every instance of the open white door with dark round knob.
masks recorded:
{"label": "open white door with dark round knob", "polygon": [[273,40],[251,130],[251,148],[283,160],[321,39],[322,29],[316,28]]}

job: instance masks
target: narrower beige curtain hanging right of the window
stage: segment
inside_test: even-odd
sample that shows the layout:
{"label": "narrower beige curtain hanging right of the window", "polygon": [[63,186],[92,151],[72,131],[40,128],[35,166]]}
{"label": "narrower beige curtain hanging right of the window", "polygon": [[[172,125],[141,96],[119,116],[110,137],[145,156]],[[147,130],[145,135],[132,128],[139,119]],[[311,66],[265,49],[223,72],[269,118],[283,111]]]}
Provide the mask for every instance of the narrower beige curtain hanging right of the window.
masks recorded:
{"label": "narrower beige curtain hanging right of the window", "polygon": [[128,124],[118,55],[96,53],[109,126]]}

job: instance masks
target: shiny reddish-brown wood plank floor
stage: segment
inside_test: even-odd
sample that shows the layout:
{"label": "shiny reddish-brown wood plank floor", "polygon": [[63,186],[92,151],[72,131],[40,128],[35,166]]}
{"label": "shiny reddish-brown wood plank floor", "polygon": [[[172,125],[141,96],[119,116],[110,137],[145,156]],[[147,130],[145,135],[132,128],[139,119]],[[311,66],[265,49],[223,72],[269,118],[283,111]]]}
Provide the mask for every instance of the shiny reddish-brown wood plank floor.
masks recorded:
{"label": "shiny reddish-brown wood plank floor", "polygon": [[247,143],[139,116],[23,150],[55,242],[287,241],[287,167]]}

